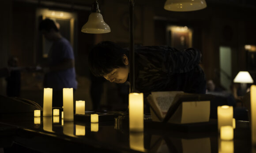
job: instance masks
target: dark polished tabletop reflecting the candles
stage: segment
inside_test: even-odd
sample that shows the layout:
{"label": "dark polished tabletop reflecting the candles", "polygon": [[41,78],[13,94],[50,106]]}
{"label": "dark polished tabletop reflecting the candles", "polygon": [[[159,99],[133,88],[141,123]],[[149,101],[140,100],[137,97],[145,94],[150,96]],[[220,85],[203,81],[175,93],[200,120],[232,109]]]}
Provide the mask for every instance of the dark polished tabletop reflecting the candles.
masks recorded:
{"label": "dark polished tabletop reflecting the candles", "polygon": [[[40,123],[39,123],[40,122]],[[56,122],[56,123],[53,123]],[[144,132],[129,132],[125,115],[91,124],[61,117],[34,118],[34,112],[0,114],[1,135],[40,152],[149,152],[149,153],[248,153],[250,123],[236,121],[233,141],[220,141],[217,120],[209,123],[174,125],[144,119]],[[4,128],[3,128],[4,127]],[[226,151],[225,151],[226,150]]]}

